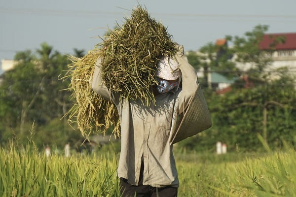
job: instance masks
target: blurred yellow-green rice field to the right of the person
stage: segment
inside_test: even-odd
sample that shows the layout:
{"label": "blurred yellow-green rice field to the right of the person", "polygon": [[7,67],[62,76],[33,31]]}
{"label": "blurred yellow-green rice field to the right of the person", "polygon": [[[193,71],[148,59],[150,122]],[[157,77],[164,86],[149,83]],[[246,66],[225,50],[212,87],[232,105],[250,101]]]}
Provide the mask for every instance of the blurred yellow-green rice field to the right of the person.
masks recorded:
{"label": "blurred yellow-green rice field to the right of the person", "polygon": [[245,159],[229,158],[229,155],[236,157],[233,153],[212,155],[209,162],[198,160],[205,158],[201,155],[192,162],[177,161],[179,194],[185,197],[296,197],[294,149],[264,156],[253,154]]}

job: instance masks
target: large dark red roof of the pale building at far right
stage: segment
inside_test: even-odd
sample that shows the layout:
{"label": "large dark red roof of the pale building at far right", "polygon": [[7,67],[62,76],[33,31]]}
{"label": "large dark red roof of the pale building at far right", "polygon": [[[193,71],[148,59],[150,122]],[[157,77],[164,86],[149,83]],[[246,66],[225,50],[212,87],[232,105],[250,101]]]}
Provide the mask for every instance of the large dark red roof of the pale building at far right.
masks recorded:
{"label": "large dark red roof of the pale building at far right", "polygon": [[[286,38],[284,43],[279,43],[275,47],[270,47],[276,37],[283,36]],[[296,33],[269,33],[263,35],[263,40],[259,44],[261,50],[296,50]]]}

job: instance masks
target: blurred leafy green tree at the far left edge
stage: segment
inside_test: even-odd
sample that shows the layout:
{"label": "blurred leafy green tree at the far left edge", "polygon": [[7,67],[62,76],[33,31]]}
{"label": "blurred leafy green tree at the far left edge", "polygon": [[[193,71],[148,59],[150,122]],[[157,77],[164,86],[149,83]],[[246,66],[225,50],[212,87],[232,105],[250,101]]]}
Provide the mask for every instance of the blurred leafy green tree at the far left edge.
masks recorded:
{"label": "blurred leafy green tree at the far left edge", "polygon": [[[40,93],[41,77],[33,63],[35,56],[31,51],[19,52],[15,56],[18,62],[14,70],[10,70],[4,75],[1,85],[1,100],[10,100],[10,107],[16,111],[6,111],[7,114],[15,116],[14,120],[20,121],[20,132],[24,131],[28,111],[32,108]],[[35,83],[38,81],[39,83]],[[3,103],[3,104],[4,104]],[[6,102],[6,104],[8,104]],[[20,118],[17,118],[20,117]],[[9,120],[14,123],[15,121]]]}

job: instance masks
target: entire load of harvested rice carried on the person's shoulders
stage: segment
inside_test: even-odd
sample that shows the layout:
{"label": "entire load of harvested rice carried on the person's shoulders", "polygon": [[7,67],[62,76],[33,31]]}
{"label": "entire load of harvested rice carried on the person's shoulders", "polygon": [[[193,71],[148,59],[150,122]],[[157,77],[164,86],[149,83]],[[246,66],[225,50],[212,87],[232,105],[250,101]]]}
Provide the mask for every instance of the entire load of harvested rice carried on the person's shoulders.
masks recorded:
{"label": "entire load of harvested rice carried on the person's shoulders", "polygon": [[152,86],[156,65],[163,56],[176,53],[175,44],[166,28],[150,18],[147,9],[138,5],[131,17],[119,28],[110,31],[102,43],[81,59],[72,57],[69,66],[71,89],[77,103],[70,110],[82,134],[106,131],[111,125],[119,135],[116,107],[94,93],[88,83],[95,61],[102,61],[102,77],[106,86],[121,95],[121,100],[140,99],[146,106],[155,103]]}

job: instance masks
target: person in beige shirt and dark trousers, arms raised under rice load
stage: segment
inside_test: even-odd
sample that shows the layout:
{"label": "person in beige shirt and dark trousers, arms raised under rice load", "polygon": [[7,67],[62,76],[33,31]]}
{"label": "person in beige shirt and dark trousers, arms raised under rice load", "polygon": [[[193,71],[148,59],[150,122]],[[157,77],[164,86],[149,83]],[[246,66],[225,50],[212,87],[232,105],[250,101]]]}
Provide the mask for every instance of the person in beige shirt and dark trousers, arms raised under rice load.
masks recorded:
{"label": "person in beige shirt and dark trousers, arms raised under rice load", "polygon": [[97,60],[92,89],[117,106],[121,124],[121,152],[117,169],[123,197],[177,197],[179,180],[171,143],[178,114],[184,112],[197,87],[197,74],[188,64],[183,46],[177,55],[157,65],[156,104],[120,101],[101,78]]}

